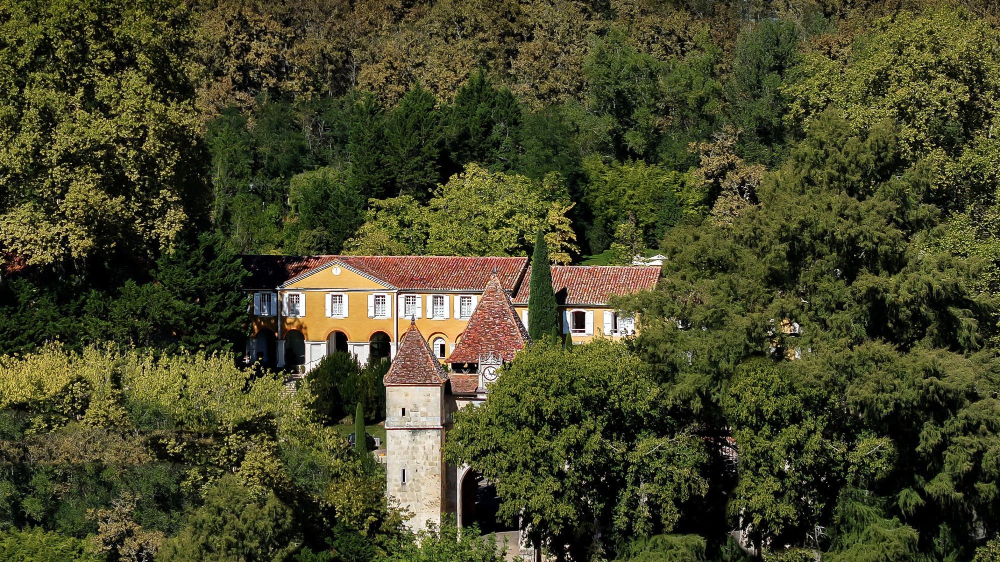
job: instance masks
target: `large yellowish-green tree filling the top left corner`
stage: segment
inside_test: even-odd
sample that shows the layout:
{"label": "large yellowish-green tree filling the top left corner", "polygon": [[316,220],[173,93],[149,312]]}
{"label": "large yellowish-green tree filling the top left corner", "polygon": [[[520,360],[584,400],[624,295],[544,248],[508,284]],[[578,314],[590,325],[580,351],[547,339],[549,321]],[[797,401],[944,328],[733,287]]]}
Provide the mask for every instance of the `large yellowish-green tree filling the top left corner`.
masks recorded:
{"label": "large yellowish-green tree filling the top left corner", "polygon": [[172,0],[0,8],[0,251],[148,260],[207,218],[190,17]]}

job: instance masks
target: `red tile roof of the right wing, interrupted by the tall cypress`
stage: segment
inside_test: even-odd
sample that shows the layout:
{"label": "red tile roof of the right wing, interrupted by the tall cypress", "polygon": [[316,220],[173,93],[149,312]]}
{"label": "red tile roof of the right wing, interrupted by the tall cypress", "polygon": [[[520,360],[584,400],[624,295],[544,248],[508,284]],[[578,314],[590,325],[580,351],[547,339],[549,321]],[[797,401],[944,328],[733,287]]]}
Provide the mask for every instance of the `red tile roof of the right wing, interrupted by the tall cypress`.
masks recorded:
{"label": "red tile roof of the right wing, interrupted by the tall cypress", "polygon": [[[514,295],[516,304],[528,304],[531,268]],[[629,295],[656,287],[660,268],[649,266],[554,265],[552,288],[564,305],[604,304],[611,295]]]}

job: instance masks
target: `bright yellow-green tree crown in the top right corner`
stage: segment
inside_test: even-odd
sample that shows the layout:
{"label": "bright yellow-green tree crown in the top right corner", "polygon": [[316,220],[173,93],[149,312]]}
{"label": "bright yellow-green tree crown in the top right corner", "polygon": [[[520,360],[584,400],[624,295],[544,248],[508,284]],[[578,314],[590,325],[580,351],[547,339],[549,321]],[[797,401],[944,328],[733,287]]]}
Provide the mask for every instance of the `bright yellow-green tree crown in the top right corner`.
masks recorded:
{"label": "bright yellow-green tree crown in the top right corner", "polygon": [[[997,31],[970,12],[939,8],[880,19],[849,48],[809,52],[783,91],[784,119],[807,126],[828,106],[855,131],[892,119],[899,153],[934,170],[935,201],[964,209],[992,196],[990,127],[1000,95]],[[986,177],[983,177],[983,174]]]}

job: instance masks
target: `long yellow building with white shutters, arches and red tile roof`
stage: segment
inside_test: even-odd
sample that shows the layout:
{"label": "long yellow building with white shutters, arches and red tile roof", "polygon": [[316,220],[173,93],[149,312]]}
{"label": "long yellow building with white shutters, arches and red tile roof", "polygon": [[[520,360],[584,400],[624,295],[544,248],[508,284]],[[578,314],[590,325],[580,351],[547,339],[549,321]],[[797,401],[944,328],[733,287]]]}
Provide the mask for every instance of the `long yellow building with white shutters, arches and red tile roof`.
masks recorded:
{"label": "long yellow building with white shutters, arches and red tile roof", "polygon": [[[527,258],[245,256],[244,264],[253,293],[247,354],[266,364],[307,371],[333,351],[362,363],[392,358],[411,319],[446,361],[494,271],[527,322]],[[655,267],[553,267],[564,333],[574,343],[631,333],[634,322],[608,297],[652,289],[658,277]]]}

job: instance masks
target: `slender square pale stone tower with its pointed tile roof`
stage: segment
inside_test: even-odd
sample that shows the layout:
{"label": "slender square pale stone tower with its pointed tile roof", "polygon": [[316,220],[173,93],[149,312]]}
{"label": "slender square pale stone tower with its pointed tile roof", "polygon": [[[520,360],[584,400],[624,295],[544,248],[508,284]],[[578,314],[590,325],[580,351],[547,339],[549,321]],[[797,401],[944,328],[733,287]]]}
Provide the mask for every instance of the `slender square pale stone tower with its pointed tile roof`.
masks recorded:
{"label": "slender square pale stone tower with its pointed tile roof", "polygon": [[400,340],[385,375],[386,492],[413,513],[414,530],[441,522],[447,476],[444,368],[416,325]]}

